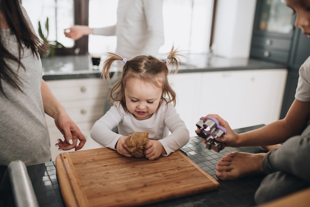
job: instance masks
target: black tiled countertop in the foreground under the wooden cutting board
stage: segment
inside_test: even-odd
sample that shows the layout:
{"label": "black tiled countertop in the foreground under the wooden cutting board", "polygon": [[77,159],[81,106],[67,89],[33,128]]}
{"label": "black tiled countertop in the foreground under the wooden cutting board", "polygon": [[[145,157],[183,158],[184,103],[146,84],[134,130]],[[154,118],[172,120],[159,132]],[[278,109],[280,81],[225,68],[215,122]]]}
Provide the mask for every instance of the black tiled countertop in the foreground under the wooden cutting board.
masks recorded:
{"label": "black tiled countertop in the foreground under the wooden cutting board", "polygon": [[[234,131],[242,133],[261,126],[263,125],[236,129]],[[260,147],[226,147],[221,152],[216,153],[207,150],[199,137],[191,137],[190,141],[181,150],[216,180],[216,163],[227,153],[233,151],[265,152]],[[27,171],[40,207],[64,206],[54,161],[27,166]],[[149,207],[253,207],[256,206],[254,194],[263,178],[264,175],[254,175],[233,181],[217,180],[220,184],[218,190],[160,202],[149,205]],[[0,207],[2,206],[15,207],[6,166],[0,166]]]}

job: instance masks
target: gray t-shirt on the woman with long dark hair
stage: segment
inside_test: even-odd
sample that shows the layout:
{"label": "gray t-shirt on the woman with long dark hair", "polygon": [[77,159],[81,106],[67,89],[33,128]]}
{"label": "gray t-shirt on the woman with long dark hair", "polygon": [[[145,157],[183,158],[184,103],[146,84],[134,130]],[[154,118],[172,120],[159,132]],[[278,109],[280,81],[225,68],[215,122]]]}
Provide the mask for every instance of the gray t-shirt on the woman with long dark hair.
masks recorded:
{"label": "gray t-shirt on the woman with long dark hair", "polygon": [[[25,9],[22,9],[30,23]],[[18,57],[18,44],[10,29],[0,29],[0,33],[4,47]],[[21,61],[25,70],[18,68],[16,62],[5,61],[18,74],[23,92],[1,79],[8,99],[0,94],[0,165],[8,165],[13,160],[21,160],[26,165],[47,162],[51,159],[51,151],[41,96],[41,59],[24,47]]]}

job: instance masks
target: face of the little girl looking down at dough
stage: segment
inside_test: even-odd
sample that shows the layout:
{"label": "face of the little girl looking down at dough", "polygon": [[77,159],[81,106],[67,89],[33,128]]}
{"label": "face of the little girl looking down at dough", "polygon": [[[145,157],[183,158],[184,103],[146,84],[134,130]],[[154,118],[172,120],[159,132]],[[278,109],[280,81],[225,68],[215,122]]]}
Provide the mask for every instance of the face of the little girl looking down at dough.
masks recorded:
{"label": "face of the little girl looking down at dough", "polygon": [[128,110],[138,120],[150,118],[158,108],[162,88],[137,78],[130,78],[125,86],[125,101]]}

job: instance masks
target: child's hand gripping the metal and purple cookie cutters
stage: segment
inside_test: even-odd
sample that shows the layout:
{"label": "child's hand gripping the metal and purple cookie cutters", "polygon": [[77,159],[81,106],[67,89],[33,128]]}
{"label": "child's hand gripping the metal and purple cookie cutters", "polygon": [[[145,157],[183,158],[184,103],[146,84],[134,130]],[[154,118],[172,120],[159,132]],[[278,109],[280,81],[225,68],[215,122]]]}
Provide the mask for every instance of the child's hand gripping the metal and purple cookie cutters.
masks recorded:
{"label": "child's hand gripping the metal and purple cookie cutters", "polygon": [[[220,138],[217,138],[216,141],[219,142],[224,142],[225,146],[227,147],[238,147],[238,141],[239,141],[239,135],[235,133],[224,119],[222,119],[219,115],[217,114],[208,114],[205,116],[205,120],[209,117],[212,116],[217,119],[219,125],[224,127],[227,130],[227,134],[224,134]],[[202,142],[206,144],[206,139],[201,138]]]}

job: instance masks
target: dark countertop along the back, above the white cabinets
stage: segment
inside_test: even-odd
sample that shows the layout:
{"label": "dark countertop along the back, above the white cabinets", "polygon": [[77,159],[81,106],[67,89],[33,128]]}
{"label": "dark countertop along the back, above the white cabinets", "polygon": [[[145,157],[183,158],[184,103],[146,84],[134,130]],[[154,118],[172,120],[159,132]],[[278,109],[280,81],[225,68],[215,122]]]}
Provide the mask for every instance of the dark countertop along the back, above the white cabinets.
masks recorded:
{"label": "dark countertop along the back, above the white cabinets", "polygon": [[[185,54],[186,55],[186,54]],[[181,60],[178,73],[214,72],[251,69],[283,69],[286,65],[248,58],[223,58],[207,54],[188,54]],[[105,56],[102,56],[101,66]],[[42,58],[44,80],[100,78],[101,69],[94,70],[88,55]],[[116,68],[112,68],[114,72]]]}

